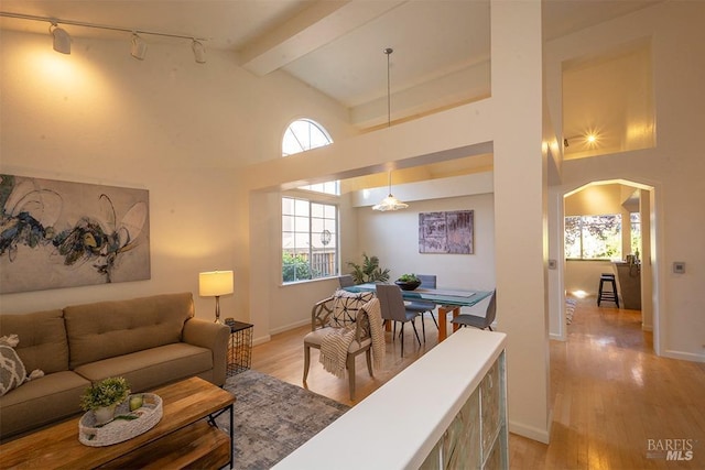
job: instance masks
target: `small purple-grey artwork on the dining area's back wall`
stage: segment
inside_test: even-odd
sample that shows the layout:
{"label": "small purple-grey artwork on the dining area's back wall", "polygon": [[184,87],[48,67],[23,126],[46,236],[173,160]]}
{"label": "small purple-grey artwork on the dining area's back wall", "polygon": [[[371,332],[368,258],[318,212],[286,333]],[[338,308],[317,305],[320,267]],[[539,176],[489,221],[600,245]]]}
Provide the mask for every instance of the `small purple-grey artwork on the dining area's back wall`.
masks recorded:
{"label": "small purple-grey artwork on the dining area's back wall", "polygon": [[474,254],[473,210],[419,214],[419,253]]}

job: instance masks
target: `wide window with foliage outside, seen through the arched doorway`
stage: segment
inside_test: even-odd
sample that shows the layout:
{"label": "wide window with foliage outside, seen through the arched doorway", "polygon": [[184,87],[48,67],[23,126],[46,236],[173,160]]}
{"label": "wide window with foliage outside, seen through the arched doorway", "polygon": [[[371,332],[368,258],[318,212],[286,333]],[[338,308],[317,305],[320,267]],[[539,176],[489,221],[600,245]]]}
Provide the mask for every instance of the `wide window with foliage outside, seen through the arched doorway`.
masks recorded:
{"label": "wide window with foliage outside, seen through the arched doorway", "polygon": [[565,258],[574,260],[621,259],[621,216],[566,217]]}

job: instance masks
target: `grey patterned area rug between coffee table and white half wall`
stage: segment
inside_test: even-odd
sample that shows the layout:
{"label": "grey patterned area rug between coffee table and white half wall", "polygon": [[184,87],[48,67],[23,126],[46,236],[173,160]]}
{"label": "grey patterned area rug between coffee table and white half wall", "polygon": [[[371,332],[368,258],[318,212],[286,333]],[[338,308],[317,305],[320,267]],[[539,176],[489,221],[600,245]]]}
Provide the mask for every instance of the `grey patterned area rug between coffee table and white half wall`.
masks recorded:
{"label": "grey patterned area rug between coffee table and white half wall", "polygon": [[[252,370],[228,378],[224,387],[236,396],[232,458],[237,470],[271,468],[349,409]],[[228,414],[217,423],[227,429]]]}

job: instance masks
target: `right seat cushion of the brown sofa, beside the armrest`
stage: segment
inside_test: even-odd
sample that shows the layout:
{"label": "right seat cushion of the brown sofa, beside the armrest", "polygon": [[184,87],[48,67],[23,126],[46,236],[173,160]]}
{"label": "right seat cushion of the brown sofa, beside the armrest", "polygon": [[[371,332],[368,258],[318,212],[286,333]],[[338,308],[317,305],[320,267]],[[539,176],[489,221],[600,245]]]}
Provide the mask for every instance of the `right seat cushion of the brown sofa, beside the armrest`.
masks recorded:
{"label": "right seat cushion of the brown sofa, beside the armrest", "polygon": [[145,392],[212,369],[209,349],[178,342],[84,364],[75,372],[91,382],[123,376],[132,392]]}

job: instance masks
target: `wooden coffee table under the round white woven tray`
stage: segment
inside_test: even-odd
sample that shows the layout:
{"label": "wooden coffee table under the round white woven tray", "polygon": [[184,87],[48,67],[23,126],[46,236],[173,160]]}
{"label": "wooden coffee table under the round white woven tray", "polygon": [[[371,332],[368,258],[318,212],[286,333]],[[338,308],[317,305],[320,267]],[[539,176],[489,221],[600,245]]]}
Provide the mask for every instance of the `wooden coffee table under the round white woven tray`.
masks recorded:
{"label": "wooden coffee table under the round white woven tray", "polygon": [[[88,447],[78,440],[80,417],[0,446],[0,468],[232,468],[235,396],[192,378],[152,391],[163,416],[152,429],[123,442]],[[230,413],[230,431],[212,426],[214,414]]]}

